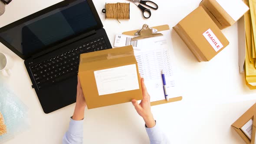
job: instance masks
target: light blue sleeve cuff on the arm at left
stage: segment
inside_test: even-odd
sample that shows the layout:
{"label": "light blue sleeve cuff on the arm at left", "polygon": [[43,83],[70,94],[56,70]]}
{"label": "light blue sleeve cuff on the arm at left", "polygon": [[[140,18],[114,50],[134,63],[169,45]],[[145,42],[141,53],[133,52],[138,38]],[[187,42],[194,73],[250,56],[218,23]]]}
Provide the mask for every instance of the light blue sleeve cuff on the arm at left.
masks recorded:
{"label": "light blue sleeve cuff on the arm at left", "polygon": [[65,133],[62,144],[83,144],[83,120],[70,118],[69,130]]}

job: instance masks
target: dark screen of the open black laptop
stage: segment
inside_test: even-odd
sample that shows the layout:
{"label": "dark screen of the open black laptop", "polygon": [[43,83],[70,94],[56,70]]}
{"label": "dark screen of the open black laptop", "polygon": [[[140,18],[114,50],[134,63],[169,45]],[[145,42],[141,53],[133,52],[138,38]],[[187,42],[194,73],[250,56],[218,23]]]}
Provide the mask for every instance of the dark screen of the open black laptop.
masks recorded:
{"label": "dark screen of the open black laptop", "polygon": [[75,0],[0,32],[22,55],[28,55],[97,26],[87,0]]}

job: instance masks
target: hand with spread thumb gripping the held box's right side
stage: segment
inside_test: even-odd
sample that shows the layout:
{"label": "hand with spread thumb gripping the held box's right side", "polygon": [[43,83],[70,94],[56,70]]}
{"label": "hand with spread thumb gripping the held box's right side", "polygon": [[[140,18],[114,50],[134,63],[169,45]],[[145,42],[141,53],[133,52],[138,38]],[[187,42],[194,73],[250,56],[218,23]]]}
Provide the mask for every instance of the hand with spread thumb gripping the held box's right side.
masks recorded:
{"label": "hand with spread thumb gripping the held box's right side", "polygon": [[143,96],[141,103],[138,104],[138,102],[135,99],[131,100],[131,102],[134,105],[138,114],[144,119],[146,126],[148,128],[153,128],[155,126],[155,121],[153,114],[151,112],[150,95],[148,94],[143,78],[141,78],[141,89]]}

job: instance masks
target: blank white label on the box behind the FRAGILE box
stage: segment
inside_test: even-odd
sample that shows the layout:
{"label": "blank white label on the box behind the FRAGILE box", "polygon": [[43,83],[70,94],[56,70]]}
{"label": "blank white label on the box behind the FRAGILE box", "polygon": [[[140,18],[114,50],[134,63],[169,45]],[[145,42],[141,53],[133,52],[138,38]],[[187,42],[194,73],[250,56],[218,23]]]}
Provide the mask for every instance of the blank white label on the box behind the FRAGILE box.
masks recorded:
{"label": "blank white label on the box behind the FRAGILE box", "polygon": [[237,21],[249,7],[242,0],[216,0],[226,12]]}

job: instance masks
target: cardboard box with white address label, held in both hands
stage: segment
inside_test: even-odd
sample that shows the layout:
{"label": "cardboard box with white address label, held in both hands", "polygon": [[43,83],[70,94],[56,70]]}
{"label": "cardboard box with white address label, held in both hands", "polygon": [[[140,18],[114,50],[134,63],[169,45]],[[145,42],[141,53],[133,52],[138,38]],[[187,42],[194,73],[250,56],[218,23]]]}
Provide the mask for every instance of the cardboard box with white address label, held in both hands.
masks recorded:
{"label": "cardboard box with white address label, held in both hands", "polygon": [[142,99],[132,46],[81,54],[78,75],[88,109]]}

